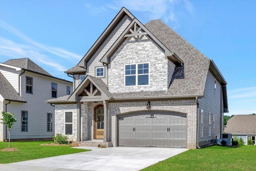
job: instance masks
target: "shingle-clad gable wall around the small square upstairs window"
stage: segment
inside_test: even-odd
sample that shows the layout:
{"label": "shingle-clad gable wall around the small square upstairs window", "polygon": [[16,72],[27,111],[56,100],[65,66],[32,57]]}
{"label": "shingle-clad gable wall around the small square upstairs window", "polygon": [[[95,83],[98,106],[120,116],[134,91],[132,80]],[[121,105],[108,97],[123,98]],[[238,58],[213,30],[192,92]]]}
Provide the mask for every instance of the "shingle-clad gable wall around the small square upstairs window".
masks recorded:
{"label": "shingle-clad gable wall around the small square upstairs window", "polygon": [[[108,51],[108,49],[114,44],[114,42],[118,39],[118,37],[122,34],[122,32],[126,29],[126,27],[130,24],[131,20],[128,16],[124,16],[124,18],[120,21],[120,23],[116,26],[116,28],[112,31],[112,33],[108,36],[108,38],[102,43],[100,48],[96,51],[96,53],[92,56],[92,58],[87,63],[87,74],[95,77],[95,67],[102,67],[102,63],[99,60],[102,56]],[[108,84],[108,71],[105,69],[105,77],[102,78],[103,82]]]}

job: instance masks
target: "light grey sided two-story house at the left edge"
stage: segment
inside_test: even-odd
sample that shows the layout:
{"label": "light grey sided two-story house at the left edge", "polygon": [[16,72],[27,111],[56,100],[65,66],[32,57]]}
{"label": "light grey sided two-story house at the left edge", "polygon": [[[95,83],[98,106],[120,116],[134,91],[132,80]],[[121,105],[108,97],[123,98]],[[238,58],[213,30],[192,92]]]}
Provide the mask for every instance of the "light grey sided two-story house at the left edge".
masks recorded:
{"label": "light grey sided two-story house at the left edge", "polygon": [[[54,136],[54,106],[45,100],[72,93],[72,82],[53,77],[29,58],[0,63],[0,118],[14,113],[11,141],[49,140]],[[0,124],[0,141],[8,139]]]}

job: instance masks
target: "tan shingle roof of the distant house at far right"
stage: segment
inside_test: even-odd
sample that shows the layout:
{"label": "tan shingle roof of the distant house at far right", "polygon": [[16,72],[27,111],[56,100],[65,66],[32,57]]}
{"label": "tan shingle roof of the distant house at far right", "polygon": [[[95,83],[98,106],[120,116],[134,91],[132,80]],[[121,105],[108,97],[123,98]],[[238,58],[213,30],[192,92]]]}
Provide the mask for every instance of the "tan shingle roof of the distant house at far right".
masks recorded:
{"label": "tan shingle roof of the distant house at far right", "polygon": [[226,133],[256,134],[256,115],[234,115],[227,121]]}

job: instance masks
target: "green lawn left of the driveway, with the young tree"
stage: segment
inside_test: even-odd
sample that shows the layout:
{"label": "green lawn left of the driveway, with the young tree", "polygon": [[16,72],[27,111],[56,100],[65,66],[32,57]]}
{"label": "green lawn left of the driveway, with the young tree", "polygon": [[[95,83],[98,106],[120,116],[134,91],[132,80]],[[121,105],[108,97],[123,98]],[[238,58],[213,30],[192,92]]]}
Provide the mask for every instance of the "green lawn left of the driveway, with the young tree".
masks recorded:
{"label": "green lawn left of the driveway, with the young tree", "polygon": [[[52,143],[52,141],[11,142],[11,148],[16,148],[18,151],[0,151],[0,163],[13,163],[88,151],[71,148],[71,146],[40,145],[50,142]],[[8,148],[8,142],[0,142],[0,150],[3,148]]]}

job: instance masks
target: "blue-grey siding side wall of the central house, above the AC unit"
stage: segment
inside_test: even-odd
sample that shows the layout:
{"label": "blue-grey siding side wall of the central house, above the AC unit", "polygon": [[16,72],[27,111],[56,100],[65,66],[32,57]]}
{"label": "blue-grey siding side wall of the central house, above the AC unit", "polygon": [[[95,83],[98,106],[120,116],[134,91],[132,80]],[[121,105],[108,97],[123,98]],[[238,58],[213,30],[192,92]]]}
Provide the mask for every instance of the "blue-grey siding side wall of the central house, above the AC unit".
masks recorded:
{"label": "blue-grey siding side wall of the central house, above the AC unit", "polygon": [[[200,137],[201,124],[199,124],[199,146],[207,145],[212,143],[210,140],[214,140],[216,136],[220,138],[223,124],[223,115],[221,108],[221,85],[216,80],[216,96],[214,96],[214,76],[208,72],[206,79],[206,86],[204,90],[204,97],[199,100],[199,121],[201,123],[201,109],[204,110],[204,127],[203,127],[203,136]],[[223,105],[222,105],[223,106]],[[211,113],[211,135],[208,134],[209,127],[209,112]],[[213,128],[213,114],[215,117],[215,127]],[[221,120],[222,118],[222,120]]]}

